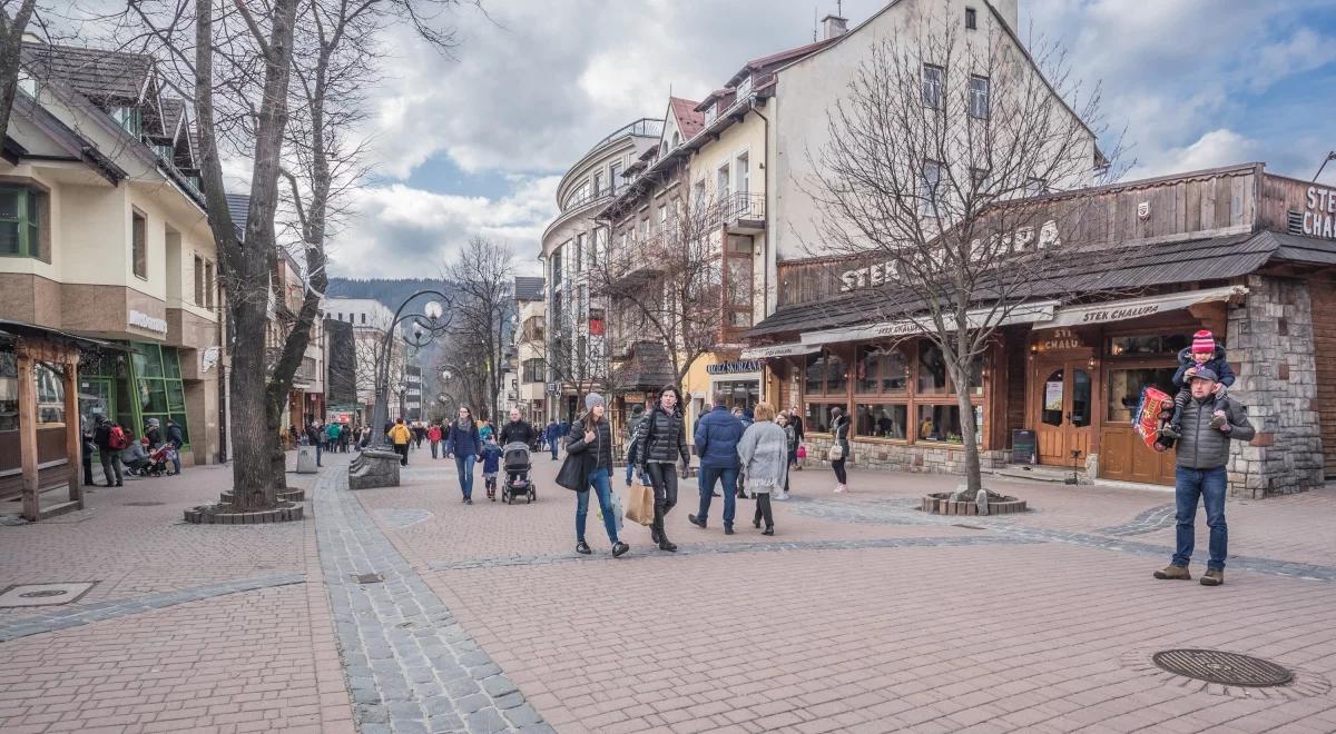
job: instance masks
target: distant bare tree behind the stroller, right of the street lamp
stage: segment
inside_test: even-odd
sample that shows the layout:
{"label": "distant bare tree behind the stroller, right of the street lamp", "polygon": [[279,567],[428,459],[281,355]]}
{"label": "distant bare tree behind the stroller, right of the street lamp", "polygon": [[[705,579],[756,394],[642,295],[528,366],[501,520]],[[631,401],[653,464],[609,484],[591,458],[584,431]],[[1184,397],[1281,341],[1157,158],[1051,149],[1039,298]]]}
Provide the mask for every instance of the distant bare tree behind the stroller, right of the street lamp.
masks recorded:
{"label": "distant bare tree behind the stroller, right of the street lamp", "polygon": [[513,254],[509,247],[476,236],[445,270],[454,288],[454,330],[462,343],[477,351],[470,359],[486,375],[488,418],[497,419],[497,402],[504,387],[501,350],[508,342],[514,307]]}

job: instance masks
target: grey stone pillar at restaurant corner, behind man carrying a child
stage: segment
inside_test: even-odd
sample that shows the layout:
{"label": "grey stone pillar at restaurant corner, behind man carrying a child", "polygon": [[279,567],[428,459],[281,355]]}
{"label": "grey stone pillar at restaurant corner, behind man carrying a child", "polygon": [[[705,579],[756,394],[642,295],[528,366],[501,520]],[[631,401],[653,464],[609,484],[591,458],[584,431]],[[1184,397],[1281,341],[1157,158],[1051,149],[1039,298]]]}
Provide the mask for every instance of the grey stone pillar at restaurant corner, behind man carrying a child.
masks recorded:
{"label": "grey stone pillar at restaurant corner, behind man carrying a child", "polygon": [[1317,362],[1308,283],[1249,275],[1242,306],[1229,307],[1230,395],[1257,428],[1233,443],[1229,494],[1260,499],[1323,484]]}

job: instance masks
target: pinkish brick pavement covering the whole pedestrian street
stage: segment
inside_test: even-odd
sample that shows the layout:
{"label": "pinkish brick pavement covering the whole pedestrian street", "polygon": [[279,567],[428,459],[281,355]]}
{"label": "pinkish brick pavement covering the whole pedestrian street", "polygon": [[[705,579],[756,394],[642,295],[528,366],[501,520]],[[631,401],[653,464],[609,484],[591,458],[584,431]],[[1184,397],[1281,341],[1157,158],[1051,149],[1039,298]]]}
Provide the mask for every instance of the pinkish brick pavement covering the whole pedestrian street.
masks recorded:
{"label": "pinkish brick pavement covering the whole pedestrian street", "polygon": [[[938,518],[916,498],[954,478],[855,470],[834,495],[810,468],[767,538],[751,502],[736,535],[689,526],[687,482],[681,550],[632,524],[612,559],[597,522],[573,553],[544,456],[540,500],[510,507],[464,506],[425,451],[403,486],[349,492],[345,459],[290,476],[297,524],[184,526],[227,480],[198,468],[0,527],[0,589],[98,582],[0,610],[0,731],[1336,731],[1336,488],[1230,502],[1228,583],[1205,589],[1150,579],[1164,492],[990,479],[1035,511]],[[1168,647],[1296,683],[1173,677],[1149,663]]]}

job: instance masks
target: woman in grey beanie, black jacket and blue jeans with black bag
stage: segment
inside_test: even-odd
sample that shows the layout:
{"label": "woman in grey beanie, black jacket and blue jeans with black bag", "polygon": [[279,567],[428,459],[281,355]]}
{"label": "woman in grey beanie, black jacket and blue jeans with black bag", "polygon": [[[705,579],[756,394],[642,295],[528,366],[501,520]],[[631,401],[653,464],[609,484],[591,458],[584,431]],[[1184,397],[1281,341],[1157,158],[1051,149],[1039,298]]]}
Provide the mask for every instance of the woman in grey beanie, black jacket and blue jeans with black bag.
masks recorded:
{"label": "woman in grey beanie, black jacket and blue jeans with black bag", "polygon": [[599,492],[603,526],[612,542],[612,557],[619,558],[631,546],[617,538],[617,511],[612,506],[612,424],[604,416],[603,395],[587,395],[585,407],[588,412],[570,426],[566,436],[566,463],[557,472],[557,484],[576,491],[576,553],[593,553],[584,536],[589,487],[593,487]]}

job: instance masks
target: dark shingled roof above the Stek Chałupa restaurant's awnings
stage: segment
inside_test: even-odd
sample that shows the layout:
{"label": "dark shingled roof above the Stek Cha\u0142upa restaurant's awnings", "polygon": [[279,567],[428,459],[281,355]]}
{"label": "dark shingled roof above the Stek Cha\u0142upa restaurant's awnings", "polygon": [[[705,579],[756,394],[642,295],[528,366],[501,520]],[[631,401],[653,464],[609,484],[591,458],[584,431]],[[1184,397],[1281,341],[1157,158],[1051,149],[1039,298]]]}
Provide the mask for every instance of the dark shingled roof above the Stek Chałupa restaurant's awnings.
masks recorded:
{"label": "dark shingled roof above the Stek Cha\u0142upa restaurant's awnings", "polygon": [[[1061,294],[1134,291],[1153,286],[1225,280],[1256,271],[1276,254],[1275,232],[1242,234],[1192,242],[1152,243],[1118,250],[1070,252],[1050,275],[1025,292],[1007,288],[1011,298],[1049,298]],[[1336,248],[1333,248],[1336,250]],[[995,294],[981,290],[985,303]],[[748,339],[872,323],[926,310],[918,294],[894,286],[864,288],[823,303],[787,306],[747,332]]]}

